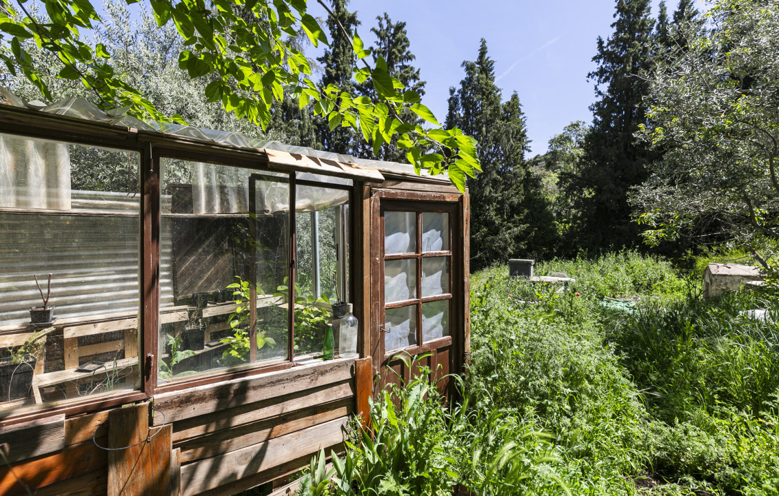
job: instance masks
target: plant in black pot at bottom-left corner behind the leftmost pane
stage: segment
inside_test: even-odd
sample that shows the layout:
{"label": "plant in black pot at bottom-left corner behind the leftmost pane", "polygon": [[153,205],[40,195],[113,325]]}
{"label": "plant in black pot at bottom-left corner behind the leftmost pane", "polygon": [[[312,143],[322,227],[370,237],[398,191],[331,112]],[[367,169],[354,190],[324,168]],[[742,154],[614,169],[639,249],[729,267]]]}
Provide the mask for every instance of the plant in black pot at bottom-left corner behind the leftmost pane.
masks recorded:
{"label": "plant in black pot at bottom-left corner behind the leftmost pane", "polygon": [[0,402],[26,398],[30,393],[38,354],[43,350],[44,338],[54,329],[33,332],[10,357],[0,358]]}

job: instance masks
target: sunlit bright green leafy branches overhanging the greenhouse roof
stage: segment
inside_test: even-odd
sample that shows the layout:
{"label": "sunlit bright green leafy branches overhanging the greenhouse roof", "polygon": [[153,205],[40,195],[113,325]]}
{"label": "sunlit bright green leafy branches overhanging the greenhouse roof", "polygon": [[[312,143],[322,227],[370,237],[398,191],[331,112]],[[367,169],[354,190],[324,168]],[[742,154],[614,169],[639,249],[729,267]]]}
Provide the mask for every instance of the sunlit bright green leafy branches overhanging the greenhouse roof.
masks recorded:
{"label": "sunlit bright green leafy branches overhanging the greenhouse roof", "polygon": [[[135,0],[127,0],[134,3]],[[319,4],[334,18],[323,0]],[[183,121],[168,116],[132,86],[112,64],[111,53],[102,43],[92,46],[79,37],[81,30],[93,30],[101,19],[89,0],[47,0],[46,19],[30,12],[29,0],[16,5],[4,2],[0,9],[0,59],[9,72],[23,72],[44,97],[51,91],[33,65],[25,40],[50,51],[58,62],[58,77],[80,81],[97,97],[101,107],[128,107],[128,114],[142,119]],[[419,172],[449,171],[449,178],[464,190],[467,176],[481,170],[476,142],[459,129],[440,128],[432,112],[420,103],[420,96],[408,90],[387,70],[386,60],[377,55],[368,64],[370,50],[356,31],[343,30],[354,53],[351,74],[357,83],[372,85],[376,101],[341,90],[333,84],[317,84],[312,68],[295,40],[305,33],[315,46],[328,44],[325,31],[308,12],[306,0],[150,0],[157,26],[175,26],[183,41],[178,65],[192,79],[206,78],[204,91],[209,101],[221,102],[237,118],[247,118],[266,128],[274,102],[288,95],[299,107],[312,106],[313,113],[326,118],[331,129],[351,128],[372,142],[374,150],[397,137],[397,145]],[[411,112],[435,128],[404,121]]]}

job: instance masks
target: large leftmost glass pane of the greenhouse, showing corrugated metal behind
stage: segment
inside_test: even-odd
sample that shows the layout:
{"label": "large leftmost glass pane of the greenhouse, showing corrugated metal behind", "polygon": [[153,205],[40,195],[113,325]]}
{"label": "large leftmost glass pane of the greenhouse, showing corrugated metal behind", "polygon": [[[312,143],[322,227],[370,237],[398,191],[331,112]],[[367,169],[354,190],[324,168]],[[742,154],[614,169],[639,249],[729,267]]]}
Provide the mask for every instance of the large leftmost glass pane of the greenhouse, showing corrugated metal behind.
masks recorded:
{"label": "large leftmost glass pane of the greenhouse, showing corrugated metal behind", "polygon": [[0,134],[3,414],[139,386],[138,167],[135,152]]}

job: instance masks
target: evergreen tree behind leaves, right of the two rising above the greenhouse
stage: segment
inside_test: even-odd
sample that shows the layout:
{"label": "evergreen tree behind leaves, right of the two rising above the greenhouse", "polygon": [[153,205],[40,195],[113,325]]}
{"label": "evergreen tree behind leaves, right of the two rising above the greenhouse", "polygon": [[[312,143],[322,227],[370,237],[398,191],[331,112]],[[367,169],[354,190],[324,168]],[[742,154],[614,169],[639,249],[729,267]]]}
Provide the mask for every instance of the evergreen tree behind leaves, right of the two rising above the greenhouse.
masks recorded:
{"label": "evergreen tree behind leaves, right of the two rising above the greenhouse", "polygon": [[[420,79],[419,69],[411,65],[416,57],[411,53],[411,41],[408,39],[406,23],[402,21],[393,23],[386,12],[383,16],[376,16],[376,20],[378,24],[371,28],[372,33],[376,36],[376,44],[371,47],[373,60],[375,61],[380,55],[386,62],[387,72],[390,76],[403,83],[407,90],[414,90],[420,97],[423,97],[425,95],[425,81]],[[372,85],[363,84],[360,86],[360,91],[371,100],[378,100]],[[424,123],[412,111],[404,111],[400,118],[410,124],[421,125]],[[383,144],[379,148],[379,153],[373,153],[373,146],[370,143],[357,140],[354,143],[354,153],[358,157],[406,162],[406,151],[398,150],[396,143],[397,138],[389,144]]]}

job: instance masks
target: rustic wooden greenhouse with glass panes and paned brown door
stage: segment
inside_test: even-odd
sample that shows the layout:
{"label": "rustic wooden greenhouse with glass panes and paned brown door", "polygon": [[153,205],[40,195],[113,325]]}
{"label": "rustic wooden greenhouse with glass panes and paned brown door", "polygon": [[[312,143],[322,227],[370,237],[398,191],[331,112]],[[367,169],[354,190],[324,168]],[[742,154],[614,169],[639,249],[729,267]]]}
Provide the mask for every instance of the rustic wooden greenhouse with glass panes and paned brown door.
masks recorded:
{"label": "rustic wooden greenhouse with glass panes and paned brown door", "polygon": [[0,96],[0,493],[234,494],[462,371],[445,174]]}

